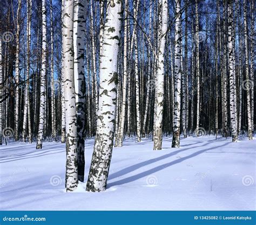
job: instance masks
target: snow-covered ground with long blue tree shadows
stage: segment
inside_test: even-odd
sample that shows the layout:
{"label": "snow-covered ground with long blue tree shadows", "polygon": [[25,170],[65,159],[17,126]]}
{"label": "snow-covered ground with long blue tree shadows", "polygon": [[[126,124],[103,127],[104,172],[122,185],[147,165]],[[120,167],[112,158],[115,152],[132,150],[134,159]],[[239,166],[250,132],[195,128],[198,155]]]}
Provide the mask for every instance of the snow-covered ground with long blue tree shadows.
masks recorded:
{"label": "snow-covered ground with long blue tree shadows", "polygon": [[[93,139],[86,140],[85,177]],[[65,193],[65,144],[0,147],[1,210],[255,210],[256,142],[188,137],[153,151],[151,139],[114,148],[106,192]]]}

